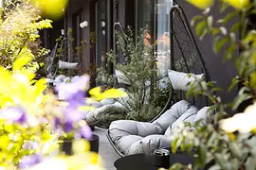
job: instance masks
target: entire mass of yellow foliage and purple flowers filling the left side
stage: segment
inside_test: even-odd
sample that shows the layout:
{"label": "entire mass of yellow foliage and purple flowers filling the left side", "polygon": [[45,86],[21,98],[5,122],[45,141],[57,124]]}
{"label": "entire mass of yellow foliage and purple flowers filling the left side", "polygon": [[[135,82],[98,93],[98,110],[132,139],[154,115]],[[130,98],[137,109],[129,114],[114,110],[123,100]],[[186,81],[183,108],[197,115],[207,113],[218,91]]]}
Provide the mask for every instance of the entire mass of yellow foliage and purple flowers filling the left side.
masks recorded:
{"label": "entire mass of yellow foliage and purple flowers filling the left side", "polygon": [[[68,102],[46,91],[45,78],[35,79],[47,53],[38,31],[50,23],[28,0],[6,1],[0,19],[0,169],[103,169],[101,158],[89,152],[91,129],[82,120],[84,110],[94,109],[84,98],[89,76],[67,83],[72,88],[63,84]],[[91,100],[126,95],[115,89],[90,93]],[[71,156],[62,150],[67,139]]]}

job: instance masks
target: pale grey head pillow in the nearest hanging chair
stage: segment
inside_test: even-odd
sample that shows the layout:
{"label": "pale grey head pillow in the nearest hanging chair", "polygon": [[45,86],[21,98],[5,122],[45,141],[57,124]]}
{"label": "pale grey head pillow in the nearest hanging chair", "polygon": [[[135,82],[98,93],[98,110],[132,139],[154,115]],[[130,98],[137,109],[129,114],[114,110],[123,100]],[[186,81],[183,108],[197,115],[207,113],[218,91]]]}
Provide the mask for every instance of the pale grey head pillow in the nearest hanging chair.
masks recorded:
{"label": "pale grey head pillow in the nearest hanging chair", "polygon": [[182,72],[176,72],[174,70],[168,70],[168,76],[171,80],[174,90],[182,90],[182,91],[189,91],[191,86],[188,84],[193,82],[194,82],[193,86],[196,88],[196,90],[199,90],[200,86],[198,84],[198,81],[205,80],[204,74],[193,75],[193,74],[186,74]]}

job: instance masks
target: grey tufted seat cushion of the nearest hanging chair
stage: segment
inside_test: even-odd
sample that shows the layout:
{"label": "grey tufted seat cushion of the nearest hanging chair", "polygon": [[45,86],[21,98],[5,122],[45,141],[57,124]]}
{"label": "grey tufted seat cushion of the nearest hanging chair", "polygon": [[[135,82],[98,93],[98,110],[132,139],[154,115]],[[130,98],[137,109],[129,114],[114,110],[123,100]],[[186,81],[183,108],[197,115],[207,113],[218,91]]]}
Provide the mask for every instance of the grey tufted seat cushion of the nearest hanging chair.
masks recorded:
{"label": "grey tufted seat cushion of the nearest hanging chair", "polygon": [[205,107],[198,111],[189,102],[181,100],[153,123],[131,120],[112,122],[109,127],[110,138],[124,155],[150,154],[157,148],[171,147],[170,136],[180,123],[207,120],[208,109]]}

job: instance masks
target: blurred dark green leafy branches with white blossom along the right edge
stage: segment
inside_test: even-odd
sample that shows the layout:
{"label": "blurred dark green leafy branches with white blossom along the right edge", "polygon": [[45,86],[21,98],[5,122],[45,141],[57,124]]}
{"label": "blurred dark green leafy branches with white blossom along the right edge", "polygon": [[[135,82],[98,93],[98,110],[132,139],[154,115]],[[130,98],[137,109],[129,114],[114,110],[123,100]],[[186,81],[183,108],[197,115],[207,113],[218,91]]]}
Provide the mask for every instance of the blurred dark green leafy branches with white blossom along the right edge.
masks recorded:
{"label": "blurred dark green leafy branches with white blossom along the right edge", "polygon": [[222,89],[215,87],[213,82],[200,82],[200,90],[192,88],[188,92],[187,96],[192,93],[207,95],[214,103],[211,110],[215,110],[215,114],[211,116],[210,124],[185,124],[176,131],[172,151],[189,153],[195,162],[188,167],[176,163],[172,169],[256,169],[255,104],[243,113],[225,119],[229,116],[227,109],[237,110],[242,103],[250,105],[256,100],[256,31],[255,23],[250,20],[255,17],[256,3],[248,0],[215,1],[222,15],[221,19],[215,20],[209,8],[213,6],[212,1],[206,0],[204,5],[188,1],[204,8],[202,14],[191,22],[197,36],[200,39],[212,36],[213,51],[224,54],[223,60],[230,60],[236,66],[237,76],[232,79],[229,91],[238,85],[241,88],[229,104],[223,103],[216,94]]}

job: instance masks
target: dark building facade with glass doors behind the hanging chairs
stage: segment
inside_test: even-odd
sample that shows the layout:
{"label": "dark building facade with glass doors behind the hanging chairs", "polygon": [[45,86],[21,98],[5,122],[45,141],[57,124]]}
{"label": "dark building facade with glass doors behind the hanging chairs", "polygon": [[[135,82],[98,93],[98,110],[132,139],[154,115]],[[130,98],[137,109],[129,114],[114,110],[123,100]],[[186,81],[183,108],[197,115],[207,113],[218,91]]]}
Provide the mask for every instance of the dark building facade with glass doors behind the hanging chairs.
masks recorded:
{"label": "dark building facade with glass doors behind the hanging chairs", "polygon": [[[185,10],[189,21],[201,12],[184,0],[177,3]],[[149,36],[154,40],[152,42],[157,42],[155,54],[158,66],[161,72],[166,73],[170,68],[169,12],[172,5],[172,0],[70,0],[64,18],[54,24],[52,30],[47,30],[46,47],[53,47],[54,39],[61,35],[62,29],[66,36],[68,28],[71,28],[73,47],[81,45],[82,41],[86,42],[82,50],[82,67],[99,67],[105,60],[106,52],[113,49],[115,23],[119,22],[122,27],[132,26],[136,33],[140,28],[147,26]],[[214,16],[218,18],[217,13]],[[227,92],[231,77],[236,75],[234,66],[229,62],[223,63],[221,54],[217,57],[212,52],[210,37],[196,41],[210,71],[211,79]],[[228,102],[233,99],[235,93],[220,94],[224,102]]]}

